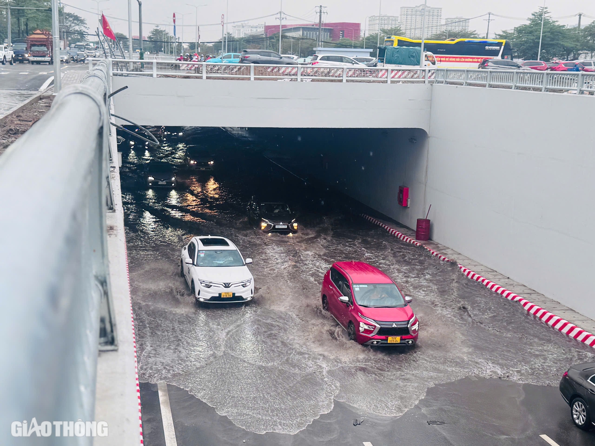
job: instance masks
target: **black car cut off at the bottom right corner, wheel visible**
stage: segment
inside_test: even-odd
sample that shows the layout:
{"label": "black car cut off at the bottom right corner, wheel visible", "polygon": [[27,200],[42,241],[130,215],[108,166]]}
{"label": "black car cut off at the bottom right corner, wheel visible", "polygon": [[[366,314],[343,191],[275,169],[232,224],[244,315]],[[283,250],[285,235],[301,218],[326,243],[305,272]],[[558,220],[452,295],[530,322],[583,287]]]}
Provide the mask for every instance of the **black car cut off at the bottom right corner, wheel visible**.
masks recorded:
{"label": "black car cut off at the bottom right corner, wheel visible", "polygon": [[577,428],[595,428],[595,362],[571,366],[560,380],[560,394],[570,406],[570,416]]}

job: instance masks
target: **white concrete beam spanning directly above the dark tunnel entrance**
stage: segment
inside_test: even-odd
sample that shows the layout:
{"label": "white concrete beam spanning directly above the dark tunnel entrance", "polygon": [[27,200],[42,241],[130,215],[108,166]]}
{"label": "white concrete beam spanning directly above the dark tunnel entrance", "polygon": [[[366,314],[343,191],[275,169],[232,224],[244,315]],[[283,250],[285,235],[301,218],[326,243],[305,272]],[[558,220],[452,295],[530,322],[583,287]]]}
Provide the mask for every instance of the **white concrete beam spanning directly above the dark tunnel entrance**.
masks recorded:
{"label": "white concrete beam spanning directly above the dark tunnel entrance", "polygon": [[[428,130],[431,85],[112,78],[118,115],[143,125]],[[121,124],[121,123],[118,123]]]}

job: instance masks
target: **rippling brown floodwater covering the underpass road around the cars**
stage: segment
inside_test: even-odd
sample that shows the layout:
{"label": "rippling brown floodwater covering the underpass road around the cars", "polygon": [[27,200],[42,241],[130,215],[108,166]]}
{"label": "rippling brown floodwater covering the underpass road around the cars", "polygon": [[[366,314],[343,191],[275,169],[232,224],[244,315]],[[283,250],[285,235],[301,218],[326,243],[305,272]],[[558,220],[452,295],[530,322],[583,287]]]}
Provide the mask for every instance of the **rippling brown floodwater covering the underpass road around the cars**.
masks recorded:
{"label": "rippling brown floodwater covering the underpass road around the cars", "polygon": [[[184,388],[248,431],[292,434],[334,401],[399,416],[435,384],[480,376],[558,385],[568,365],[593,360],[590,349],[455,265],[349,213],[346,197],[271,163],[263,153],[274,143],[220,128],[166,137],[159,149],[121,145],[140,381]],[[219,150],[215,172],[184,170],[191,144]],[[176,190],[143,186],[140,165],[151,159],[179,165]],[[253,195],[287,202],[300,232],[269,236],[250,227],[245,208]],[[201,234],[224,235],[254,259],[251,303],[195,304],[180,277],[180,250]],[[359,346],[322,312],[322,275],[338,260],[371,263],[414,298],[421,321],[414,350]]]}

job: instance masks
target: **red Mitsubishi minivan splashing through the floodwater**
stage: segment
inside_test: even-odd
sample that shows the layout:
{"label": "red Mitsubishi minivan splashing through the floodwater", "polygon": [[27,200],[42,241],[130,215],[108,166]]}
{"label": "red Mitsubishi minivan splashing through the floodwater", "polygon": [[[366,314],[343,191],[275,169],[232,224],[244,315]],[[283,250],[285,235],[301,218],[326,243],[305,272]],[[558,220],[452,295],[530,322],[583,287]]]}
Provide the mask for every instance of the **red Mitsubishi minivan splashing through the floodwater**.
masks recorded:
{"label": "red Mitsubishi minivan splashing through the floodwater", "polygon": [[367,346],[414,346],[419,321],[403,293],[380,269],[364,262],[337,262],[322,280],[322,309]]}

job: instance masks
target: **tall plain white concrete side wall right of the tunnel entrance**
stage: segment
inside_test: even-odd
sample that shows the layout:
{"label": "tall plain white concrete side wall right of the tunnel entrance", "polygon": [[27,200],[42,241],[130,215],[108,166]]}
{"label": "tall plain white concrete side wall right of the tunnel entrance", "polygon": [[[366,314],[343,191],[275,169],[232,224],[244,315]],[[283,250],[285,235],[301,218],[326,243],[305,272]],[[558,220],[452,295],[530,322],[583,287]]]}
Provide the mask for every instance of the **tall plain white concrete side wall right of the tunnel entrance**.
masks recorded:
{"label": "tall plain white concrete side wall right of the tunnel entrance", "polygon": [[592,319],[594,116],[591,96],[435,85],[426,196],[434,240]]}

